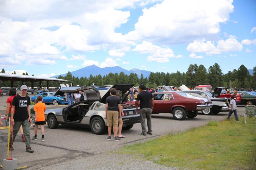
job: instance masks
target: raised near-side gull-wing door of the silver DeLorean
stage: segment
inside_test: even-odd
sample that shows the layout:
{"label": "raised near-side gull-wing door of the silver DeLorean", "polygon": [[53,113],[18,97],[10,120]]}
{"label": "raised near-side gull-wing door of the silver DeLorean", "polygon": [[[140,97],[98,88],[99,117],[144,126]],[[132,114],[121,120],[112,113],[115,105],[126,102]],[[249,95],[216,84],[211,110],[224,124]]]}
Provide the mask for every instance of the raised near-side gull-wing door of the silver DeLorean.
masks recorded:
{"label": "raised near-side gull-wing door of the silver DeLorean", "polygon": [[82,87],[62,87],[60,88],[54,96],[63,96],[65,93],[78,93],[83,91],[86,94],[87,100],[99,100],[100,92],[95,87],[92,86],[82,86]]}

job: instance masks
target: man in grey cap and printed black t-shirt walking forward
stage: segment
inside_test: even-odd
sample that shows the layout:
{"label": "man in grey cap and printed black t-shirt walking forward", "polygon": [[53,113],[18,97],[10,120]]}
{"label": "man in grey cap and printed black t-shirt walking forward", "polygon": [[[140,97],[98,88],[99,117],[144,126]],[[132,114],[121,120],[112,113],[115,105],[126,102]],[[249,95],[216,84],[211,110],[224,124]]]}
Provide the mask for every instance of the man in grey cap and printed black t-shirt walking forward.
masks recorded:
{"label": "man in grey cap and printed black t-shirt walking forward", "polygon": [[26,85],[22,85],[20,87],[21,94],[18,94],[13,98],[12,101],[12,109],[11,109],[11,124],[13,124],[13,138],[10,136],[10,148],[9,150],[14,150],[11,146],[11,142],[16,137],[16,134],[19,131],[20,126],[23,128],[23,132],[25,135],[25,143],[26,143],[26,152],[32,153],[34,152],[30,146],[30,97],[27,96],[28,87]]}

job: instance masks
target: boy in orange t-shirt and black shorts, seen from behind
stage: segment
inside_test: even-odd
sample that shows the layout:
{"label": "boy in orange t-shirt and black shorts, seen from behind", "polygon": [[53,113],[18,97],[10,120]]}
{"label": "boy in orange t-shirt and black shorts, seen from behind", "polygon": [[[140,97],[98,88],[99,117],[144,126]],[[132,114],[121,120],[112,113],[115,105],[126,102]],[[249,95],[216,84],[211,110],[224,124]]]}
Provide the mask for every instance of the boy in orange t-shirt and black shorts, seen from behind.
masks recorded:
{"label": "boy in orange t-shirt and black shorts, seen from behind", "polygon": [[38,103],[34,106],[35,111],[35,135],[32,137],[33,140],[37,140],[37,127],[38,125],[41,125],[41,132],[42,132],[42,141],[44,141],[44,124],[45,118],[44,118],[44,112],[46,111],[45,104],[43,103],[43,97],[38,96],[37,97]]}

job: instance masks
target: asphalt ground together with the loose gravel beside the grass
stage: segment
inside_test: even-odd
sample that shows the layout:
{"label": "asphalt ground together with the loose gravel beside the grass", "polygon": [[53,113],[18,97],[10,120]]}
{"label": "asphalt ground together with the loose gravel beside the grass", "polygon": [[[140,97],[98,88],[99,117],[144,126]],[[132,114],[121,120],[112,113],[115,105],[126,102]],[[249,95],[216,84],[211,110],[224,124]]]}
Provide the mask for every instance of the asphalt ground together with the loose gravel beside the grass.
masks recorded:
{"label": "asphalt ground together with the loose gravel beside the grass", "polygon": [[[238,107],[238,115],[242,116],[244,111],[244,106]],[[15,149],[13,157],[18,159],[18,167],[28,166],[28,169],[165,169],[166,167],[144,161],[139,156],[133,158],[130,155],[114,154],[113,152],[124,145],[143,142],[168,133],[186,131],[205,125],[210,120],[223,120],[227,114],[228,112],[211,116],[199,114],[194,119],[186,118],[183,121],[175,120],[171,114],[152,115],[153,135],[141,136],[141,124],[137,123],[132,129],[123,130],[126,138],[117,142],[114,142],[113,139],[107,141],[107,134],[95,135],[91,133],[90,129],[63,125],[59,125],[57,129],[49,129],[45,125],[45,141],[40,140],[40,129],[38,131],[39,140],[31,140],[34,153],[25,152],[25,143],[21,141],[22,138],[18,133],[13,145]],[[7,130],[0,131],[0,164],[2,164],[2,159],[6,158],[7,135]],[[30,136],[33,135],[34,130],[31,128]]]}

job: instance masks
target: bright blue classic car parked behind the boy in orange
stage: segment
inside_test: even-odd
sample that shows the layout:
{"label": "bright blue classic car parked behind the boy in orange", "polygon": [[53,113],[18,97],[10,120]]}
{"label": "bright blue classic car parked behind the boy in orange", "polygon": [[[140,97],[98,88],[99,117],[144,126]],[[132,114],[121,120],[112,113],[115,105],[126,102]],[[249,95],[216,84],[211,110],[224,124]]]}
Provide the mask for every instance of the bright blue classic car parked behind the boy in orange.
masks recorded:
{"label": "bright blue classic car parked behind the boy in orange", "polygon": [[68,102],[66,102],[66,98],[63,96],[54,96],[55,93],[54,92],[44,92],[44,93],[40,93],[37,96],[31,97],[32,102],[35,101],[35,99],[37,99],[38,96],[43,96],[43,103],[45,104],[68,104]]}

